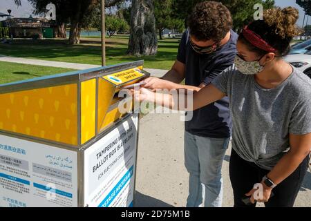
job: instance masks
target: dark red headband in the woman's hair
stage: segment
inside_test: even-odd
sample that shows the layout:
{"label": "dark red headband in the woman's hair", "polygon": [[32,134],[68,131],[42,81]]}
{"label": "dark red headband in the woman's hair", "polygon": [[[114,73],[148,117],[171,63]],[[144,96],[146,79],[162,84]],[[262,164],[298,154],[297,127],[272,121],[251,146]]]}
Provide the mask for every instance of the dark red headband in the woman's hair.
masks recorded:
{"label": "dark red headband in the woman's hair", "polygon": [[249,41],[249,43],[255,46],[256,48],[260,48],[261,50],[265,50],[267,52],[276,53],[277,50],[275,48],[270,46],[270,44],[267,44],[267,42],[264,41],[255,32],[252,32],[252,30],[249,30],[247,26],[243,28],[242,34],[245,37],[245,39],[247,39],[247,41]]}

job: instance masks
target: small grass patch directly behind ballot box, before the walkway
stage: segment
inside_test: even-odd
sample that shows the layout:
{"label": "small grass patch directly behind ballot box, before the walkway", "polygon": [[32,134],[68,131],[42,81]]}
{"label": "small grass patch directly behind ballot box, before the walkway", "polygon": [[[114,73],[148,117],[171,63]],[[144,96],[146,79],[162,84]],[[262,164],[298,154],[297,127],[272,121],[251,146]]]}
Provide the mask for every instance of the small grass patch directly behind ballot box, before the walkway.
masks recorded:
{"label": "small grass patch directly behind ballot box, before the walkway", "polygon": [[16,64],[0,61],[0,84],[10,83],[12,81],[21,81],[44,75],[55,75],[73,71],[68,68],[53,68],[46,66],[33,66],[28,64]]}

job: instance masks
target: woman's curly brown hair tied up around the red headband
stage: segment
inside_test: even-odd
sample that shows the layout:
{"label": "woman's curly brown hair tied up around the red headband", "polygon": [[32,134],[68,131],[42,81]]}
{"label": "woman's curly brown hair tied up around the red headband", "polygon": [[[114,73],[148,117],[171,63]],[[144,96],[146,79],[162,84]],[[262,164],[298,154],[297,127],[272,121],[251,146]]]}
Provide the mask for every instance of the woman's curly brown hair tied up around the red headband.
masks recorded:
{"label": "woman's curly brown hair tied up around the red headband", "polygon": [[[299,19],[299,10],[292,7],[287,8],[271,8],[263,12],[263,20],[253,21],[249,23],[248,28],[270,46],[278,50],[280,56],[287,55],[290,51],[290,42],[292,38],[301,33],[301,29],[296,26]],[[249,50],[257,52],[258,55],[265,55],[267,52],[258,49],[250,44],[243,35],[238,37],[243,41]]]}

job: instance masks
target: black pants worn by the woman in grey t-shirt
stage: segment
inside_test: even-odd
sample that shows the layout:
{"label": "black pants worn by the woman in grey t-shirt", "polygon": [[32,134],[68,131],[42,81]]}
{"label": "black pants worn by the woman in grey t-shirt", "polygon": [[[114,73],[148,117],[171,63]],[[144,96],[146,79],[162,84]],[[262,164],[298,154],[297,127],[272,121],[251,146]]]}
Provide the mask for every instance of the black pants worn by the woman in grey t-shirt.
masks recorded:
{"label": "black pants worn by the woman in grey t-shirt", "polygon": [[[265,203],[266,207],[292,207],[307,172],[309,157],[287,179],[277,185],[272,192],[274,196]],[[260,183],[270,171],[261,169],[252,162],[243,160],[232,150],[229,164],[230,180],[234,191],[234,207],[254,207],[256,204],[245,205],[242,201],[245,193],[251,191],[254,184]]]}

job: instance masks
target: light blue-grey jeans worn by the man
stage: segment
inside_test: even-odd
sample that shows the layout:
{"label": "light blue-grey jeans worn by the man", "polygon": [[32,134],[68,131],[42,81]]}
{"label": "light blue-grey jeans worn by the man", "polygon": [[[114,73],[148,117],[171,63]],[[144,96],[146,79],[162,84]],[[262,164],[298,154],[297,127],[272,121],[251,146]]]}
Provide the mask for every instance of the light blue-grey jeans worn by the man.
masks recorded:
{"label": "light blue-grey jeans worn by the man", "polygon": [[229,141],[230,138],[199,137],[185,132],[185,166],[189,172],[187,207],[222,206],[221,167]]}

